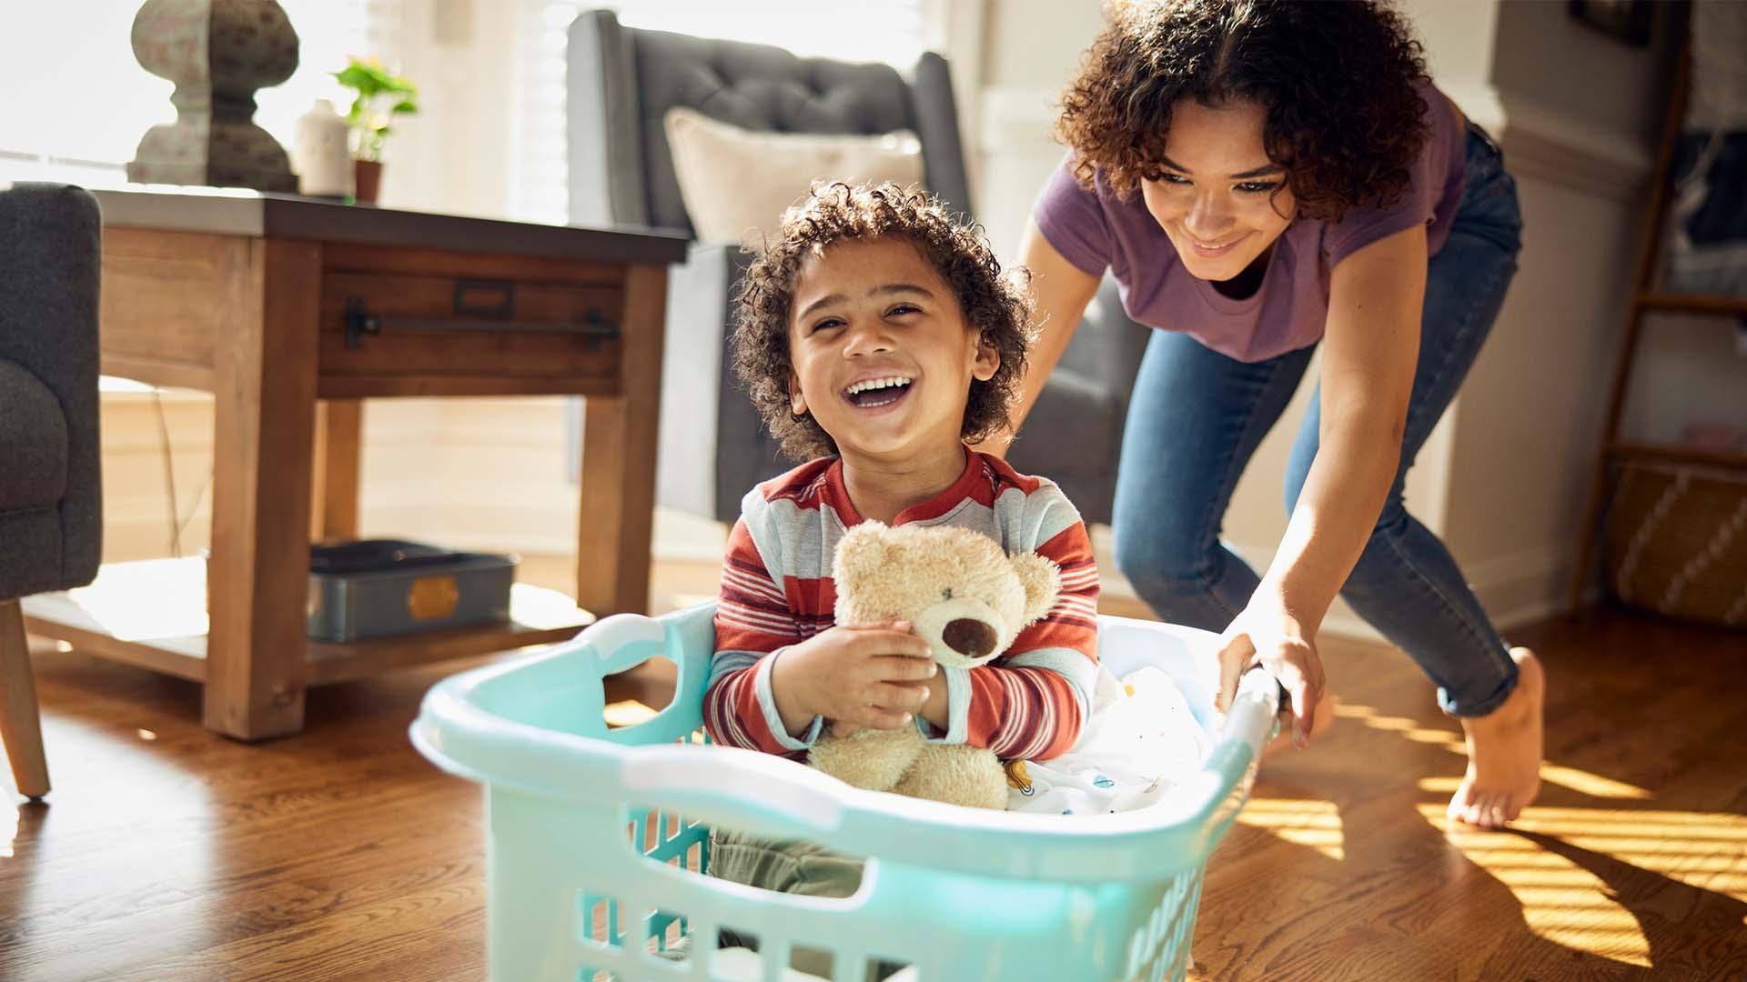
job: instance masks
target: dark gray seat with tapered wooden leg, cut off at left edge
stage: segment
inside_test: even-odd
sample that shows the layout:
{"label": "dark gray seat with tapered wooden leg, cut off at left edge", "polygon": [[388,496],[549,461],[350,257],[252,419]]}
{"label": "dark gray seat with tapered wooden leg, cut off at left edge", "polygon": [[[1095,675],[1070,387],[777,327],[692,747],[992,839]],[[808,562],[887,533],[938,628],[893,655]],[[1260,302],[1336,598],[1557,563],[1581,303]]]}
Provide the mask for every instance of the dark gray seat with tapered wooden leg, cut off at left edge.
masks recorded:
{"label": "dark gray seat with tapered wooden leg, cut off at left edge", "polygon": [[0,185],[0,741],[21,793],[49,790],[19,598],[98,571],[98,203]]}

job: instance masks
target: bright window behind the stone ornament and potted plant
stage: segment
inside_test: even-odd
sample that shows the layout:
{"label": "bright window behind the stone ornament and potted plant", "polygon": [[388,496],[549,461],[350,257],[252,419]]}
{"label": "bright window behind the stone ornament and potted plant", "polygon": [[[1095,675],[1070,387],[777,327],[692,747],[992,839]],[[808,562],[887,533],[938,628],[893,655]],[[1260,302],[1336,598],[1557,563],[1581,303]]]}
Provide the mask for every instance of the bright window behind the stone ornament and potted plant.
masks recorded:
{"label": "bright window behind the stone ornament and potted plant", "polygon": [[[280,0],[299,37],[297,72],[255,93],[255,122],[292,147],[318,98],[344,112],[328,75],[349,54],[384,52],[404,0]],[[145,131],[176,119],[175,84],[133,56],[135,0],[30,3],[0,38],[0,182],[124,183]]]}

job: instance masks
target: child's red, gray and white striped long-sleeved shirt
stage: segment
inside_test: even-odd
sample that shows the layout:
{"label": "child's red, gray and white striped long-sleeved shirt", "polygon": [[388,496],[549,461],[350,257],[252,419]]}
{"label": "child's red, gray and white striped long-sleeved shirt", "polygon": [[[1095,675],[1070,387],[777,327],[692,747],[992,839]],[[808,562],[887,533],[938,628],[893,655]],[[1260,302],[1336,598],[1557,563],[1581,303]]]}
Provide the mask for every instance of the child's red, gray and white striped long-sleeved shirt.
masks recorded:
{"label": "child's red, gray and white striped long-sleeved shirt", "polygon": [[[837,458],[797,467],[741,501],[722,566],[716,655],[704,695],[711,739],[800,758],[819,737],[825,720],[818,716],[798,739],[783,727],[770,666],[783,647],[833,626],[832,557],[844,531],[861,521]],[[1064,753],[1080,736],[1097,673],[1097,564],[1080,512],[1053,482],[966,451],[964,474],[952,488],[891,524],[908,522],[970,528],[1010,556],[1038,552],[1062,571],[1055,606],[1001,657],[971,669],[942,667],[949,725],[940,732],[915,716],[922,736],[989,748],[1003,760]]]}

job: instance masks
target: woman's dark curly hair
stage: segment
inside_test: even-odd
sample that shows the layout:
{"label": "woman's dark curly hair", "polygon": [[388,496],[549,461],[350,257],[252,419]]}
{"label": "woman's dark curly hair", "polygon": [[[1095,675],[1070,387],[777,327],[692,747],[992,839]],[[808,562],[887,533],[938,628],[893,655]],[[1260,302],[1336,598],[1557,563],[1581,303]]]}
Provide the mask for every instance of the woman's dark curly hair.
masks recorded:
{"label": "woman's dark curly hair", "polygon": [[1057,138],[1074,178],[1120,197],[1157,176],[1170,108],[1254,101],[1298,215],[1396,203],[1426,145],[1426,56],[1385,0],[1116,0],[1062,94]]}

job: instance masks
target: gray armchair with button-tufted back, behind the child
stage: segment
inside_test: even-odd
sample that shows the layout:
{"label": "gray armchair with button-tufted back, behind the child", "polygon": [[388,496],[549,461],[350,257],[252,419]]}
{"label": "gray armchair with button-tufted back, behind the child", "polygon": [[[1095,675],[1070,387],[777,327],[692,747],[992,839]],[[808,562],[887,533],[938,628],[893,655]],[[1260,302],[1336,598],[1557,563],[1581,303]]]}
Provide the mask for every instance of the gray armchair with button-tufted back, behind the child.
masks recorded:
{"label": "gray armchair with button-tufted back, behind the child", "polygon": [[[625,28],[610,10],[590,10],[570,28],[568,59],[570,217],[578,225],[692,232],[662,129],[673,107],[748,129],[912,129],[928,189],[973,215],[952,80],[938,54],[924,54],[905,79],[887,65]],[[667,288],[657,500],[720,521],[739,515],[753,484],[793,467],[777,454],[727,356],[730,299],[746,260],[735,245],[694,243]],[[1146,337],[1106,283],[1010,454],[1022,472],[1057,481],[1088,521],[1109,521],[1116,451]]]}

